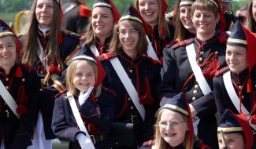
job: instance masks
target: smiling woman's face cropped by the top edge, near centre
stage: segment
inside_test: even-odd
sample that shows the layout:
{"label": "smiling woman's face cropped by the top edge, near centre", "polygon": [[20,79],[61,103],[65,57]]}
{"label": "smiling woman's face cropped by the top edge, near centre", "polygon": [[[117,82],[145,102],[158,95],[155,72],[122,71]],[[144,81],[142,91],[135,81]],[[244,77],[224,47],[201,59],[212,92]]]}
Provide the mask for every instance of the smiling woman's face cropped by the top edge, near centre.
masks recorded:
{"label": "smiling woman's face cropped by the top edge, near centre", "polygon": [[139,13],[150,26],[158,24],[158,2],[157,0],[139,0]]}

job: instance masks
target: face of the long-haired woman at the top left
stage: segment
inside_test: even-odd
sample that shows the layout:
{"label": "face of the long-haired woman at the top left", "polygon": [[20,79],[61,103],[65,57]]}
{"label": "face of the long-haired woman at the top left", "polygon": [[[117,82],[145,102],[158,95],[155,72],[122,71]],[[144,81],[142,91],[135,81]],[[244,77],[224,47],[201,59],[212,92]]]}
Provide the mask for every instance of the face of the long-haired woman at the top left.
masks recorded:
{"label": "face of the long-haired woman at the top left", "polygon": [[38,0],[35,7],[36,20],[40,27],[50,27],[54,15],[54,4],[52,0]]}

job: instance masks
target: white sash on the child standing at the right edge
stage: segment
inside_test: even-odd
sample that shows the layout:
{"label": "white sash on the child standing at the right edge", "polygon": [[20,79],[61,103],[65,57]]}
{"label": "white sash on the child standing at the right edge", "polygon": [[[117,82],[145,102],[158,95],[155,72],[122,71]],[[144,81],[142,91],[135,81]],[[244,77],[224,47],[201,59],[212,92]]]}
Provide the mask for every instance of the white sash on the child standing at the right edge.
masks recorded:
{"label": "white sash on the child standing at the right edge", "polygon": [[[232,100],[232,103],[236,107],[236,110],[239,112],[240,111],[240,109],[239,109],[239,96],[237,96],[234,85],[232,84],[231,72],[230,71],[224,73],[223,81],[224,81],[224,86],[225,86],[225,88],[228,92],[228,96],[229,96],[230,100]],[[243,104],[241,104],[241,110],[244,114],[247,115],[247,119],[249,120],[250,119],[250,112],[247,111],[247,108],[244,107]],[[254,130],[256,130],[256,125],[250,123],[250,126]]]}

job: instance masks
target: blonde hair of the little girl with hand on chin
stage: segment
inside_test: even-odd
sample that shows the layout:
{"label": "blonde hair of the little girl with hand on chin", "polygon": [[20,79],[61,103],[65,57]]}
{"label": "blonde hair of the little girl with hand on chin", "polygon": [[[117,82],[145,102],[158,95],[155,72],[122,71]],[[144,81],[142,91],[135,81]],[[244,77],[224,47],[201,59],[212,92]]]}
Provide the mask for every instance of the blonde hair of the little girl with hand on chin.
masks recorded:
{"label": "blonde hair of the little girl with hand on chin", "polygon": [[[88,60],[74,60],[72,61],[70,64],[69,64],[69,67],[67,68],[67,73],[66,73],[66,77],[65,77],[65,81],[66,81],[66,86],[67,86],[67,89],[69,91],[69,93],[71,93],[71,95],[76,95],[76,87],[73,83],[73,78],[75,76],[75,73],[76,73],[76,66],[77,64],[79,64],[80,62],[82,61],[85,61],[87,62],[87,64],[89,64],[94,73],[95,73],[95,79],[97,80],[98,78],[98,67],[97,67],[97,64],[91,62],[91,61],[88,61]],[[95,80],[95,82],[96,82]],[[100,94],[101,94],[101,89],[102,89],[102,86],[101,85],[98,85],[96,91],[95,91],[95,97],[98,97]]]}

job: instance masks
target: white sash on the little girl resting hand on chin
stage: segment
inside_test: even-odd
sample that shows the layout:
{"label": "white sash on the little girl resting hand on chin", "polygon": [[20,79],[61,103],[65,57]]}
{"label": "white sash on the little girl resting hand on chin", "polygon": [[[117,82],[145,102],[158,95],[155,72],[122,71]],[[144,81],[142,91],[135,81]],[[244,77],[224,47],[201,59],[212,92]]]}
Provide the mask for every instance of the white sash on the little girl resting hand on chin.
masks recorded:
{"label": "white sash on the little girl resting hand on chin", "polygon": [[90,139],[92,146],[95,147],[94,144],[92,143],[91,137],[90,137],[85,125],[83,124],[83,120],[81,118],[80,112],[78,111],[78,108],[76,107],[76,101],[74,99],[74,96],[72,96],[70,93],[67,93],[67,96],[69,96],[68,97],[69,98],[69,104],[70,104],[70,107],[72,109],[72,113],[73,113],[74,117],[76,118],[76,123],[77,123],[78,127]]}

